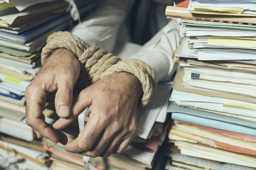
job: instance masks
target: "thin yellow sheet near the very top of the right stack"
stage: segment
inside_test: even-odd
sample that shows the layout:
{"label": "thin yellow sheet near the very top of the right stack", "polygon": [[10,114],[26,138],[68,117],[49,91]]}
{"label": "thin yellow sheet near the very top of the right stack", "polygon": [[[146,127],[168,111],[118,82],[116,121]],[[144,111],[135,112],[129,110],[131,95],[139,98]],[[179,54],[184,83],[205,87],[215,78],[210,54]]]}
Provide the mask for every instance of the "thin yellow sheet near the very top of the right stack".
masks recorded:
{"label": "thin yellow sheet near the very top of the right stack", "polygon": [[207,6],[193,6],[196,10],[202,11],[218,11],[218,12],[228,12],[233,14],[242,14],[244,12],[243,8],[223,8],[223,7],[207,7]]}

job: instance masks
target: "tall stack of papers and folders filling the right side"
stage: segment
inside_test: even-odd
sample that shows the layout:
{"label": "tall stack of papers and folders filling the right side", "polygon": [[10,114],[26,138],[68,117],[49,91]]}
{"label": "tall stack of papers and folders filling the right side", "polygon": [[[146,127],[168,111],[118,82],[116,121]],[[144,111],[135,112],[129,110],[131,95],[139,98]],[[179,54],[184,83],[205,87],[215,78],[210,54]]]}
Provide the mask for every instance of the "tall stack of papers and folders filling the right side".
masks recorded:
{"label": "tall stack of papers and folders filling the right side", "polygon": [[184,36],[173,57],[180,67],[166,168],[256,168],[255,7],[255,0],[190,0],[188,8],[166,8]]}

